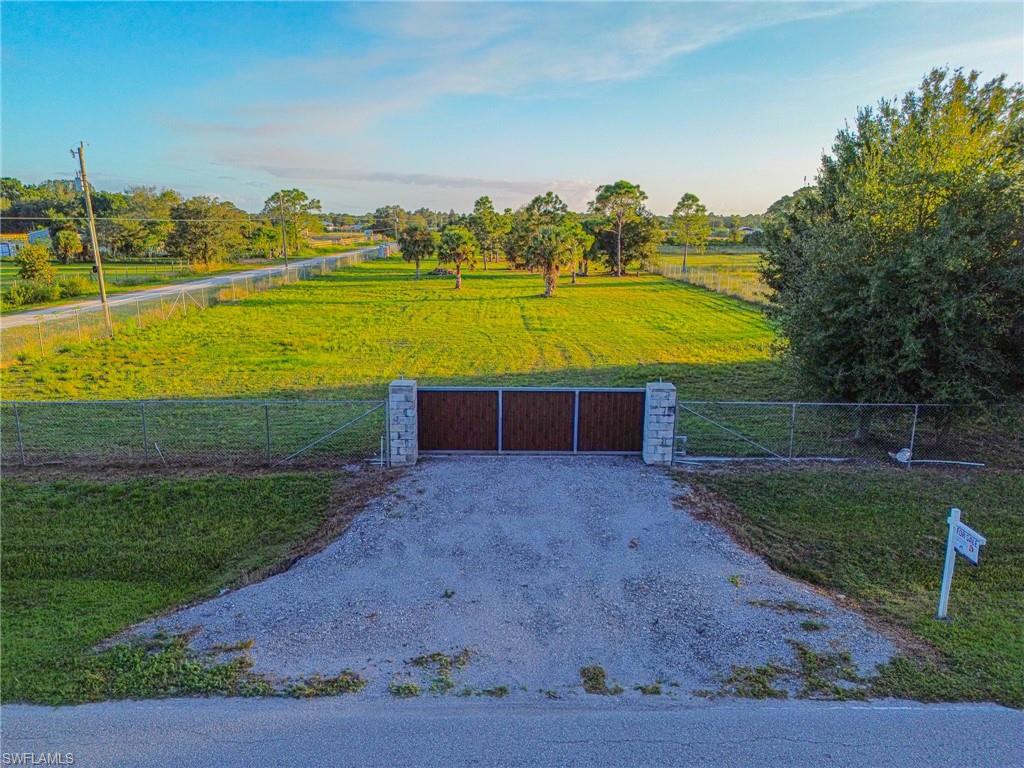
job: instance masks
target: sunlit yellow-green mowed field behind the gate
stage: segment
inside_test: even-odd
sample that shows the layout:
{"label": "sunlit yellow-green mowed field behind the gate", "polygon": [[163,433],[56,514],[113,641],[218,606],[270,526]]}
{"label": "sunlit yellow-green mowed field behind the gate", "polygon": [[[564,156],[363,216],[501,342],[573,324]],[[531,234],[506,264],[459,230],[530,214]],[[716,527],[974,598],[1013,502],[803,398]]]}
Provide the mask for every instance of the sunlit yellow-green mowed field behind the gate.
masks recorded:
{"label": "sunlit yellow-green mowed field behind the gate", "polygon": [[423,385],[643,385],[690,398],[796,394],[773,334],[743,302],[656,275],[562,278],[505,268],[414,280],[366,262],[4,371],[5,399],[380,397]]}

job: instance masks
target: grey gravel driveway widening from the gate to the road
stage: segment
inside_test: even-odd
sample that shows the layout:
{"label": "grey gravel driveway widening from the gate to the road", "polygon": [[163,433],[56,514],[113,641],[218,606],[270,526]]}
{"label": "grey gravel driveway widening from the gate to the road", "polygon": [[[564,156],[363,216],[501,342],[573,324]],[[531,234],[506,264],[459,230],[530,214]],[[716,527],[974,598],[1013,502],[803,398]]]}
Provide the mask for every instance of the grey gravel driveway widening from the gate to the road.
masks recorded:
{"label": "grey gravel driveway widening from the gate to the road", "polygon": [[631,696],[655,680],[719,689],[733,665],[794,664],[791,640],[847,649],[862,674],[892,655],[858,615],[674,505],[680,490],[636,460],[423,460],[318,554],[137,629],[201,627],[197,648],[252,639],[256,672],[350,668],[371,696],[428,684],[408,662],[463,648],[453,692],[549,696],[581,693],[586,665]]}

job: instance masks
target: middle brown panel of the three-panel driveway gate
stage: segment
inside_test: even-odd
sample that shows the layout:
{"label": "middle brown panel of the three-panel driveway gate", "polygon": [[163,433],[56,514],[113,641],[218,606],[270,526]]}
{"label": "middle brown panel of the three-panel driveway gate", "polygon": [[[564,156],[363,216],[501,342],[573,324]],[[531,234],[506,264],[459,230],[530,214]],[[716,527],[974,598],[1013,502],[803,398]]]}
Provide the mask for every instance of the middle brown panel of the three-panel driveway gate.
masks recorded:
{"label": "middle brown panel of the three-panel driveway gate", "polygon": [[573,392],[502,393],[502,451],[572,451]]}

